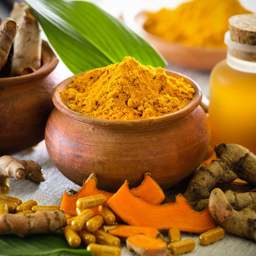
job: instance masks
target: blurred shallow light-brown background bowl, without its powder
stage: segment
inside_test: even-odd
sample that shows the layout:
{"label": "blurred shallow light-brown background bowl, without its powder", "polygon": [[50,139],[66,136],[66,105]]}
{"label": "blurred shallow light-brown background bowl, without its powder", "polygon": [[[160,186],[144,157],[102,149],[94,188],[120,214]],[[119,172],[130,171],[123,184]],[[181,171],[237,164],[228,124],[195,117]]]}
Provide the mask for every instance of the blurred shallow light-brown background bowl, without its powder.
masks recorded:
{"label": "blurred shallow light-brown background bowl, without its powder", "polygon": [[174,63],[187,68],[211,71],[219,61],[226,58],[226,48],[187,46],[164,40],[146,32],[146,30],[143,29],[143,24],[146,21],[145,12],[134,14],[124,13],[123,19],[124,22],[134,30],[134,32],[145,38],[156,49],[158,49],[169,63]]}

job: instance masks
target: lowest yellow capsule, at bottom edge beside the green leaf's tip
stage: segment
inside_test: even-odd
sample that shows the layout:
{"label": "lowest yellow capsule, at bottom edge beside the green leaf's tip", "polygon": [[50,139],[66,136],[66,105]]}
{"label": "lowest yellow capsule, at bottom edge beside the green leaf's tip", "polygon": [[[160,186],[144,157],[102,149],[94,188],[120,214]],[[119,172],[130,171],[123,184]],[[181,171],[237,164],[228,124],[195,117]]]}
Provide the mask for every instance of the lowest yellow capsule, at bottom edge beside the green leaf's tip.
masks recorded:
{"label": "lowest yellow capsule, at bottom edge beside the green leaf's tip", "polygon": [[120,248],[111,245],[89,244],[86,248],[94,256],[121,256]]}

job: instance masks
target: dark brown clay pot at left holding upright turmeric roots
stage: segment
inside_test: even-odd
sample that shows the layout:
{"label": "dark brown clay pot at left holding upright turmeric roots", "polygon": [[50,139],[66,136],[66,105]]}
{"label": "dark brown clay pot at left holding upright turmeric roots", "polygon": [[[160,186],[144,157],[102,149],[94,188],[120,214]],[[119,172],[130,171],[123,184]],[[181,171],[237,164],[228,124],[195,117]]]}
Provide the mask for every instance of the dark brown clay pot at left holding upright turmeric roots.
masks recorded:
{"label": "dark brown clay pot at left holding upright turmeric roots", "polygon": [[55,69],[58,59],[42,43],[42,66],[23,76],[0,78],[0,155],[36,145],[44,139],[45,125],[54,105],[54,87],[64,77]]}

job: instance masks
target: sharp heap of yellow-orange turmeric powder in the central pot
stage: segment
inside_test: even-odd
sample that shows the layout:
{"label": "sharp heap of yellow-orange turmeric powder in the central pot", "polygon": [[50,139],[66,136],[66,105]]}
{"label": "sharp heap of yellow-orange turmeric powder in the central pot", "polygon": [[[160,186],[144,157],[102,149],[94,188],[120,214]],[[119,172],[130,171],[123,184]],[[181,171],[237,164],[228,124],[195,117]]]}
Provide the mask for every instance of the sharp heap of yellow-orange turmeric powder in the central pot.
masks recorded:
{"label": "sharp heap of yellow-orange turmeric powder in the central pot", "polygon": [[132,57],[85,72],[61,92],[74,111],[111,119],[146,119],[182,109],[195,90],[183,78],[168,76],[163,68],[140,64]]}

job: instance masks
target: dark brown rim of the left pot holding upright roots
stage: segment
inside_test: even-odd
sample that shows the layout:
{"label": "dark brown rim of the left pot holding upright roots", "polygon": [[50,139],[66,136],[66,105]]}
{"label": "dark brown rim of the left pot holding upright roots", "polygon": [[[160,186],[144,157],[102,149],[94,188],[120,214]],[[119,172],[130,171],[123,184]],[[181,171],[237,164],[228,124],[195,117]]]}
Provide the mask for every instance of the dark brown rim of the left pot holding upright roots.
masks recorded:
{"label": "dark brown rim of the left pot holding upright roots", "polygon": [[0,78],[1,87],[14,86],[14,85],[24,85],[30,82],[35,82],[42,79],[51,73],[57,66],[59,60],[53,50],[50,48],[49,44],[42,40],[42,65],[41,67],[31,74],[13,76],[13,77],[3,77]]}

